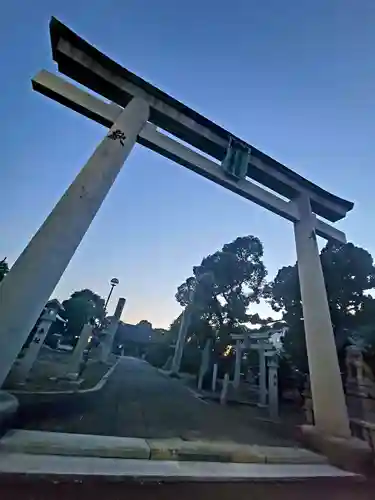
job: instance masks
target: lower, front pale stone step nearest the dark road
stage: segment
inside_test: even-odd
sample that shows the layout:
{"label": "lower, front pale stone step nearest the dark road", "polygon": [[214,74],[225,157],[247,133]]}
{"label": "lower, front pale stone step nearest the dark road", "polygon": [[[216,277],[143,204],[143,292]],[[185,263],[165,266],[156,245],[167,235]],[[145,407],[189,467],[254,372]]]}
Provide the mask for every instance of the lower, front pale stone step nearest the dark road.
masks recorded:
{"label": "lower, front pale stone step nearest the dark road", "polygon": [[[153,461],[0,452],[1,477],[17,475],[28,478],[82,480],[137,479],[168,481],[362,481],[357,474],[328,464],[237,464],[218,462]],[[142,497],[143,498],[143,497]]]}

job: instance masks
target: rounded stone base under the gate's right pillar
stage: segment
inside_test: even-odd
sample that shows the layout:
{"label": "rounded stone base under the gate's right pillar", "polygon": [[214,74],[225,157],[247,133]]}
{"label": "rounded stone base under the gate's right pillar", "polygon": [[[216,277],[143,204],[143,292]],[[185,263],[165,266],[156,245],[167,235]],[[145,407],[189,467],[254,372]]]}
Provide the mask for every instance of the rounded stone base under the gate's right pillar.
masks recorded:
{"label": "rounded stone base under the gate's right pillar", "polygon": [[365,441],[324,435],[313,425],[302,425],[299,430],[302,444],[325,455],[330,464],[359,474],[374,474],[374,456]]}

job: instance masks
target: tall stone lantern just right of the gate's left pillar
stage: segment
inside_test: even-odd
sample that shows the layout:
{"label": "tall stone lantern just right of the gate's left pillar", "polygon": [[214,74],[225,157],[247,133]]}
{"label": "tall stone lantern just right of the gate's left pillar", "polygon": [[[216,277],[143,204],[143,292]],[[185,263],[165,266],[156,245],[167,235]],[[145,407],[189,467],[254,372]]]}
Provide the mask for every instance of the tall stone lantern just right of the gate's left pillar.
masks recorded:
{"label": "tall stone lantern just right of the gate's left pillar", "polygon": [[24,382],[28,378],[39,351],[46,340],[48,330],[56,320],[57,312],[57,309],[47,307],[43,310],[35,335],[25,350],[24,357],[15,366],[15,379],[17,381]]}

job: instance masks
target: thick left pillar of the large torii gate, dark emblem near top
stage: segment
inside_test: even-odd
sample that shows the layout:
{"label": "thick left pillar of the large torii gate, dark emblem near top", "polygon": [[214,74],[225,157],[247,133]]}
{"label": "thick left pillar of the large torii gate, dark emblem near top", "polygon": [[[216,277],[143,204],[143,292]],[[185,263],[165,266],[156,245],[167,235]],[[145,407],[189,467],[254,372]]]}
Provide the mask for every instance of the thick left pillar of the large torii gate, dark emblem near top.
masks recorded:
{"label": "thick left pillar of the large torii gate, dark emblem near top", "polygon": [[132,99],[1,282],[0,387],[148,116],[148,104]]}

